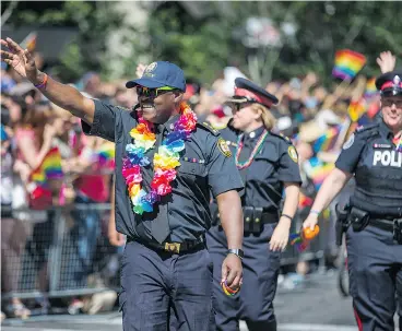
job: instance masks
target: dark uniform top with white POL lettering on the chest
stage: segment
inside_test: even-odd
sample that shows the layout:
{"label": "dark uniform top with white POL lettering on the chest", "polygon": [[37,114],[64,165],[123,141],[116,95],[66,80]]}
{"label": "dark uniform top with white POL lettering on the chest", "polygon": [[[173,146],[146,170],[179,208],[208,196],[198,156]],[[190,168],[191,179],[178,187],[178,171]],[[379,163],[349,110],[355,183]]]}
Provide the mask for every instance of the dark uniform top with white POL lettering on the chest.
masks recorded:
{"label": "dark uniform top with white POL lettering on the chest", "polygon": [[[395,151],[393,133],[381,120],[356,129],[343,144],[335,167],[354,174],[353,205],[374,214],[400,214],[402,153]],[[367,203],[362,202],[367,200]],[[369,201],[368,201],[369,200]],[[357,205],[362,204],[362,205]]]}

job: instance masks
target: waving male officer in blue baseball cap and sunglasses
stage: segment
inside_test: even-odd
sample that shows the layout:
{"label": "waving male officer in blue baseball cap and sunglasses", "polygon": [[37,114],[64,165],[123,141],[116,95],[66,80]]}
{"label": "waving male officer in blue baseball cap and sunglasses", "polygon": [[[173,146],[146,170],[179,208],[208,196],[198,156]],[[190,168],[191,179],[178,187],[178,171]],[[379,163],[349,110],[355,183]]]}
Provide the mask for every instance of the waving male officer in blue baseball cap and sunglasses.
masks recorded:
{"label": "waving male officer in blue baseball cap and sunglasses", "polygon": [[[129,133],[138,125],[139,113],[86,98],[39,72],[32,55],[13,40],[8,38],[1,44],[10,50],[1,51],[4,61],[51,102],[80,117],[84,132],[116,142],[116,226],[128,237],[119,298],[123,329],[165,331],[174,319],[179,330],[214,330],[212,261],[204,239],[211,224],[210,191],[217,200],[229,248],[221,264],[222,279],[237,287],[243,273],[238,194],[243,182],[225,142],[211,128],[197,123],[185,142],[172,193],[162,197],[152,212],[134,214],[121,170],[126,145],[132,142]],[[180,116],[179,103],[186,88],[184,72],[173,63],[154,62],[127,87],[138,87],[135,108],[144,120],[153,122],[157,146]],[[168,91],[157,92],[159,87]],[[152,159],[154,153],[155,149],[146,156]],[[154,176],[152,166],[142,167],[141,175],[143,188],[149,189]]]}

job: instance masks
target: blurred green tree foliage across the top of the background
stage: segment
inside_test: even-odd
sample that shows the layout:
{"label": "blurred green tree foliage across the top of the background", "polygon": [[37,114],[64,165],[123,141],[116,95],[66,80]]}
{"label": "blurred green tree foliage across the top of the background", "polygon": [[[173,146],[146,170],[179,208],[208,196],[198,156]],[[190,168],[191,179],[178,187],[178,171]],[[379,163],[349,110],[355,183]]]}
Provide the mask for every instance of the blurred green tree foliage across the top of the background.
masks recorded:
{"label": "blurred green tree foliage across the top of the background", "polygon": [[[125,13],[115,11],[114,2],[64,1],[43,10],[24,8],[23,3],[10,23],[79,27],[78,39],[61,57],[60,74],[72,79],[87,70],[99,70],[108,76],[110,56],[106,40],[111,31],[125,24]],[[196,16],[180,1],[158,2],[153,8],[146,26],[132,37],[125,36],[125,47],[132,48],[118,59],[125,72],[133,72],[135,61],[146,58],[176,62],[188,78],[204,83],[216,79],[226,66],[237,66],[261,84],[309,70],[331,82],[334,52],[339,49],[363,52],[367,57],[363,73],[367,75],[378,74],[376,58],[380,51],[402,54],[402,5],[398,1],[216,1],[202,2],[204,14]],[[281,44],[246,47],[248,17],[270,17],[281,33]],[[294,26],[295,34],[286,35],[284,23]]]}

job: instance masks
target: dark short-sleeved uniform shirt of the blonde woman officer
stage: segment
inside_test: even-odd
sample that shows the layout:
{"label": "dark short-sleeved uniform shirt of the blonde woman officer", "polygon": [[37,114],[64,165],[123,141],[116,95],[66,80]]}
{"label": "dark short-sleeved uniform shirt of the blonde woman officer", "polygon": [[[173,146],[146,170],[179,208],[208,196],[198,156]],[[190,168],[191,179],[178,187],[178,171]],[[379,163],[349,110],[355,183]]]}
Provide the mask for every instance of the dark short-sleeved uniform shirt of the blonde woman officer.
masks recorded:
{"label": "dark short-sleeved uniform shirt of the blonde woman officer", "polygon": [[[261,127],[243,137],[244,146],[238,161],[247,162],[264,132]],[[221,131],[234,155],[238,149],[238,133],[230,126]],[[235,157],[235,156],[234,156]],[[269,132],[251,164],[239,170],[245,184],[241,190],[244,206],[275,211],[282,198],[284,182],[302,185],[298,156],[289,139]]]}

